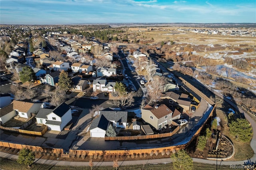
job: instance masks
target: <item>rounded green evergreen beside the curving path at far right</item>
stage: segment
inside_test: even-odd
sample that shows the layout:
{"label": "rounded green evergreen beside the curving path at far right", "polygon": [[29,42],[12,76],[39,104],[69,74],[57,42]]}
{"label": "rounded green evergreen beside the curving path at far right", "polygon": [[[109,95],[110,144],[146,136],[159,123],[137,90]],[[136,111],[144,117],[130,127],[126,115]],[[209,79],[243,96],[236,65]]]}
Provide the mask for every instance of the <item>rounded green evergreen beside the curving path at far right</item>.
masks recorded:
{"label": "rounded green evergreen beside the curving path at far right", "polygon": [[248,142],[252,138],[252,127],[246,119],[236,119],[229,124],[229,132],[238,136],[243,142]]}

